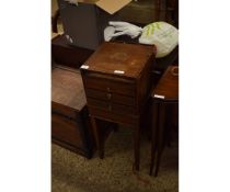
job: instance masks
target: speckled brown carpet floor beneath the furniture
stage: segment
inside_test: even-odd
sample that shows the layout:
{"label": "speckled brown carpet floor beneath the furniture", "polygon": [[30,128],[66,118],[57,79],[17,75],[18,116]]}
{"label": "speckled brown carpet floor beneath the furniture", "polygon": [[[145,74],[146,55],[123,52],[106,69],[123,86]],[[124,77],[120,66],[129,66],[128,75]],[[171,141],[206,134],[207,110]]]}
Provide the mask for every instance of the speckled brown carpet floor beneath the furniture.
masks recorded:
{"label": "speckled brown carpet floor beneath the furniture", "polygon": [[112,133],[105,143],[105,158],[87,159],[51,145],[53,192],[177,192],[179,142],[162,155],[159,176],[149,176],[150,142],[141,138],[140,171],[133,171],[133,139],[129,129]]}

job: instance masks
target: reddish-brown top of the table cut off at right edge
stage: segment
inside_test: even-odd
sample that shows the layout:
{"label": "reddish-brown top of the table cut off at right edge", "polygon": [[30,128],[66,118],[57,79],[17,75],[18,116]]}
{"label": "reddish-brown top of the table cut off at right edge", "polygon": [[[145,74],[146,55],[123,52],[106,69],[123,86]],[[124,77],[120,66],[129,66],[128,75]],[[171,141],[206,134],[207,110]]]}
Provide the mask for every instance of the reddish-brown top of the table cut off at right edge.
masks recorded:
{"label": "reddish-brown top of the table cut off at right edge", "polygon": [[179,101],[179,67],[170,66],[153,89],[153,99],[168,101]]}

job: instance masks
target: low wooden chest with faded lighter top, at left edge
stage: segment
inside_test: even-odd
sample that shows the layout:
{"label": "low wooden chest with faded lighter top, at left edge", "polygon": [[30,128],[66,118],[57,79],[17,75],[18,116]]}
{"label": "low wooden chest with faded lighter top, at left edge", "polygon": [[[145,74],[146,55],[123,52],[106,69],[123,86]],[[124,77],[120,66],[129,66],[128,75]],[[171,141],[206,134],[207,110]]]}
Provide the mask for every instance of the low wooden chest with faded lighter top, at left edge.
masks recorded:
{"label": "low wooden chest with faded lighter top, at left edge", "polygon": [[93,139],[79,70],[55,66],[51,70],[51,138],[91,158]]}

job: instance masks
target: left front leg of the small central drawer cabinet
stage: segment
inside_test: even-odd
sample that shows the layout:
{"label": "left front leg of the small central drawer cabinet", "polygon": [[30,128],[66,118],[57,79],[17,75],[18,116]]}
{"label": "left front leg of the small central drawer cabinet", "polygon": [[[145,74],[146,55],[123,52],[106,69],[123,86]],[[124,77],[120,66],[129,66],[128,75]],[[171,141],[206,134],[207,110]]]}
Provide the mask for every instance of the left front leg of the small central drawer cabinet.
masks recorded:
{"label": "left front leg of the small central drawer cabinet", "polygon": [[90,120],[91,120],[93,135],[94,135],[95,143],[96,143],[96,148],[99,150],[99,157],[101,159],[103,159],[104,158],[104,145],[102,144],[102,138],[100,138],[99,127],[96,126],[95,117],[91,116]]}

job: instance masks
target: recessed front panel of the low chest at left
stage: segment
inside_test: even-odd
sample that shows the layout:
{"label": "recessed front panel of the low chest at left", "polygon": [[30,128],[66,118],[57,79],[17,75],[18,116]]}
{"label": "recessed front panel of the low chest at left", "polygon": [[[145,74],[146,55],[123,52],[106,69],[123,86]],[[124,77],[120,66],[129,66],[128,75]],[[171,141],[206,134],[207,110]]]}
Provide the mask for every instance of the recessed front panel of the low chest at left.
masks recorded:
{"label": "recessed front panel of the low chest at left", "polygon": [[76,147],[82,148],[82,139],[77,122],[51,114],[51,136]]}

